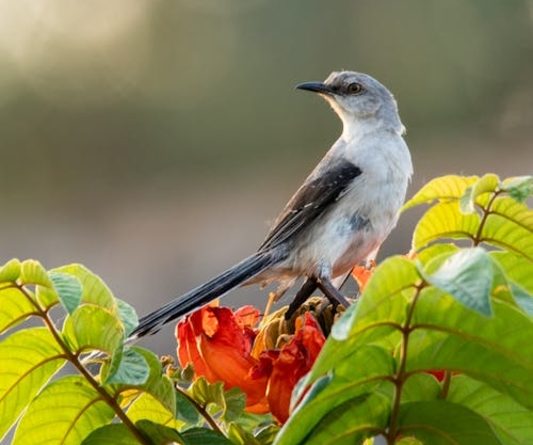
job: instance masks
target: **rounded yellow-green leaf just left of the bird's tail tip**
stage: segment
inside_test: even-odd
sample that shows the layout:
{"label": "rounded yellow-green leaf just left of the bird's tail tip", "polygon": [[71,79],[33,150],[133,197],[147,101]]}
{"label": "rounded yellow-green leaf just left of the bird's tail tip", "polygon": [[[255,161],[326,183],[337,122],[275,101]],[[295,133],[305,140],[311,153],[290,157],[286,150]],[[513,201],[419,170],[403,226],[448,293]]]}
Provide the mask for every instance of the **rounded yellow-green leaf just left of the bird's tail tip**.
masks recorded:
{"label": "rounded yellow-green leaf just left of the bird's tail tip", "polygon": [[112,356],[122,346],[124,329],[109,310],[84,303],[65,320],[63,335],[73,351],[96,349]]}

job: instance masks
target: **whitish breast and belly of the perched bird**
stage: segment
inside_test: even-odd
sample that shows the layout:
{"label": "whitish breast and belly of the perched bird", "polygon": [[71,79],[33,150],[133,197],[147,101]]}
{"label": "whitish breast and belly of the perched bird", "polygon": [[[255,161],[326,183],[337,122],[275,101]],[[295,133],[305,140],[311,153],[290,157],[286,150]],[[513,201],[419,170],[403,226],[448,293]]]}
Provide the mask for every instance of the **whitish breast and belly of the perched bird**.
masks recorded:
{"label": "whitish breast and belly of the perched bird", "polygon": [[298,273],[329,270],[335,277],[364,261],[394,228],[405,200],[412,164],[400,135],[377,132],[338,147],[332,156],[350,160],[362,173],[300,243],[291,258]]}

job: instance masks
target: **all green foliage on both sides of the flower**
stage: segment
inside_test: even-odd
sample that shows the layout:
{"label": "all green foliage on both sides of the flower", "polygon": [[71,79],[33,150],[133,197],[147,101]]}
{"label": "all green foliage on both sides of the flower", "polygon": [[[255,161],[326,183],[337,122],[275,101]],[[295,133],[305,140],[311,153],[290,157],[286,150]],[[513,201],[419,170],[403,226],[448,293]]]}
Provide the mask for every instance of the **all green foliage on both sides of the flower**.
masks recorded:
{"label": "all green foliage on both sides of the flower", "polygon": [[405,206],[431,204],[413,252],[380,264],[335,323],[279,433],[237,388],[129,345],[134,309],[83,266],[11,260],[0,440],[14,428],[14,445],[531,443],[532,192],[531,177],[495,175],[423,187]]}

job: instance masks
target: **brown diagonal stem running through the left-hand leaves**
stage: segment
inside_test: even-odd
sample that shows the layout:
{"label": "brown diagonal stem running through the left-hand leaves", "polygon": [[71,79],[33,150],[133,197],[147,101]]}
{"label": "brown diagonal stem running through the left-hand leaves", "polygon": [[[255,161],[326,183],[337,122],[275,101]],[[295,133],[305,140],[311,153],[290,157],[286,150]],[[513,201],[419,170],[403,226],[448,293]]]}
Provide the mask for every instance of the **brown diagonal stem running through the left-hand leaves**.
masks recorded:
{"label": "brown diagonal stem running through the left-hand leaves", "polygon": [[26,291],[23,285],[18,285],[17,288],[20,292],[28,299],[28,301],[35,307],[38,315],[43,319],[46,327],[54,337],[54,340],[57,342],[59,347],[63,350],[65,358],[74,365],[74,367],[79,371],[79,373],[87,380],[87,382],[94,388],[98,394],[100,394],[102,400],[104,400],[115,412],[117,417],[122,421],[122,423],[131,431],[133,436],[141,443],[142,445],[150,445],[150,442],[145,439],[139,429],[133,424],[130,418],[122,410],[118,402],[115,400],[111,394],[109,394],[103,387],[101,387],[92,374],[83,366],[80,362],[78,356],[72,352],[69,347],[63,341],[59,330],[54,324],[53,320],[49,317],[46,310],[41,308],[39,304],[31,297],[31,295]]}

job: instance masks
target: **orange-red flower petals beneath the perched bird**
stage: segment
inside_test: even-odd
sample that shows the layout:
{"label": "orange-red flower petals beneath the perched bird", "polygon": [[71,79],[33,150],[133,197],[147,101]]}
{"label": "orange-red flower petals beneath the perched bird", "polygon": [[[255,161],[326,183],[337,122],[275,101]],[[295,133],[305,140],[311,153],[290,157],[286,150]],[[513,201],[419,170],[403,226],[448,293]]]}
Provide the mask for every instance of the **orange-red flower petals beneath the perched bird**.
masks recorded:
{"label": "orange-red flower petals beneath the perched bird", "polygon": [[225,307],[204,307],[180,321],[176,328],[178,358],[192,363],[196,376],[239,387],[250,412],[272,412],[284,422],[294,385],[313,365],[324,335],[314,317],[306,313],[296,321],[296,332],[281,349],[251,355],[259,311],[244,306],[232,312]]}

